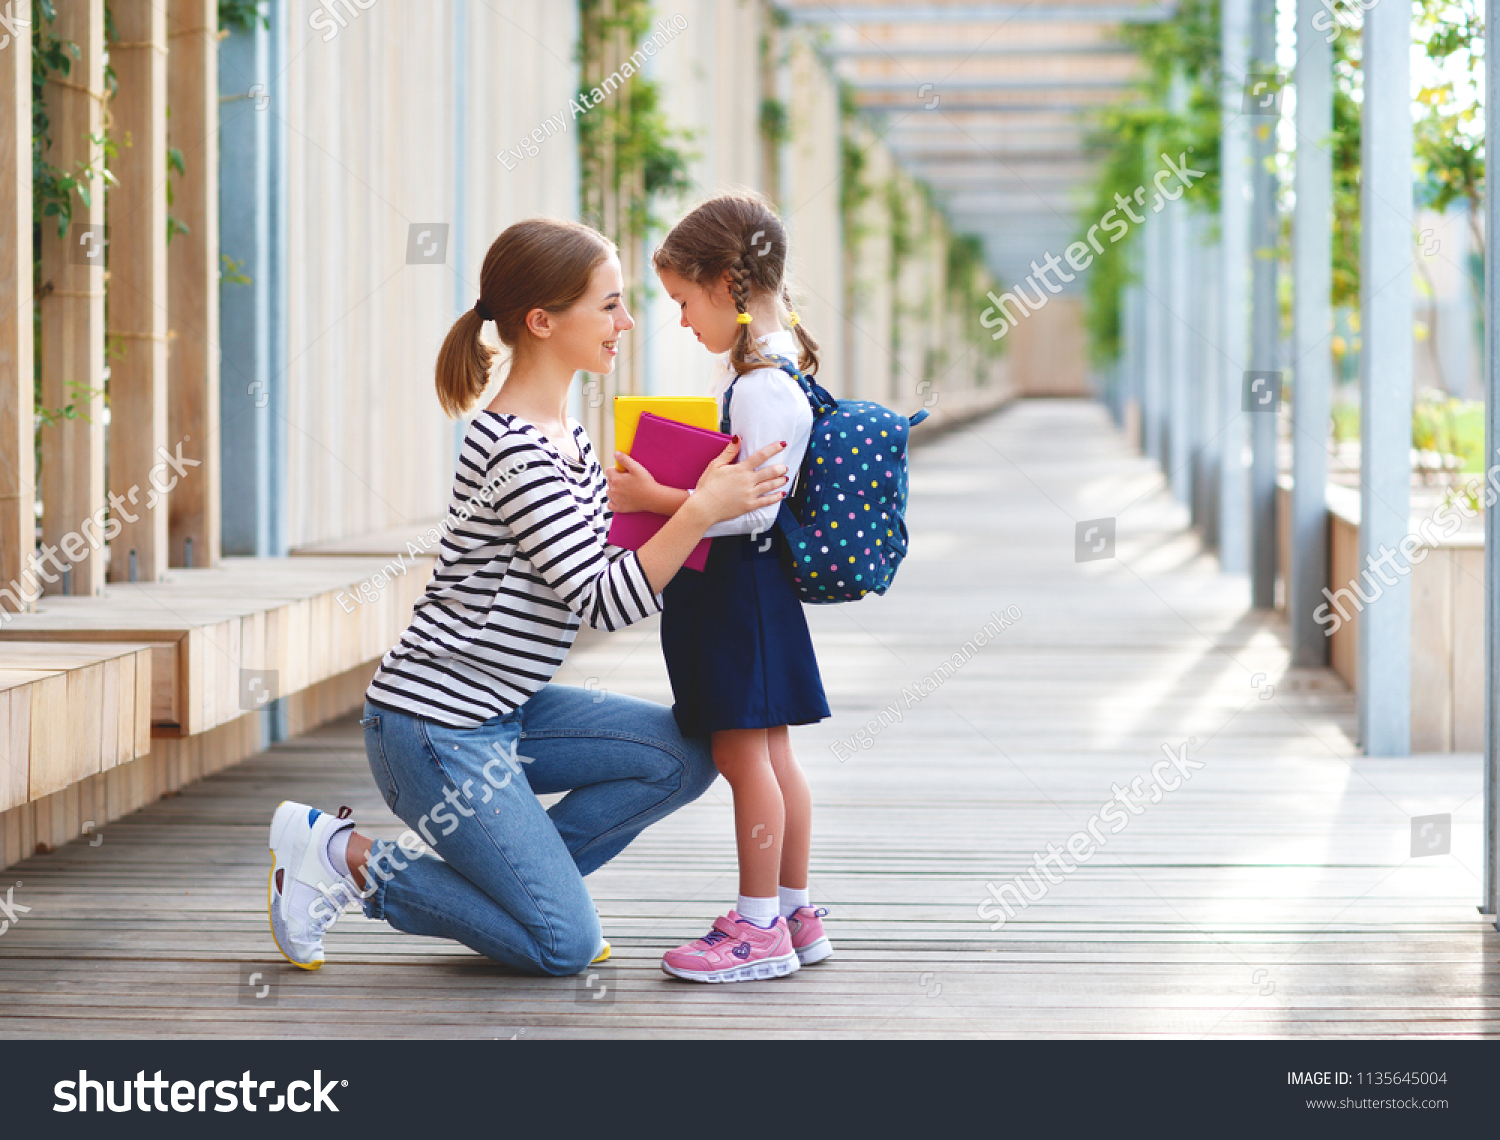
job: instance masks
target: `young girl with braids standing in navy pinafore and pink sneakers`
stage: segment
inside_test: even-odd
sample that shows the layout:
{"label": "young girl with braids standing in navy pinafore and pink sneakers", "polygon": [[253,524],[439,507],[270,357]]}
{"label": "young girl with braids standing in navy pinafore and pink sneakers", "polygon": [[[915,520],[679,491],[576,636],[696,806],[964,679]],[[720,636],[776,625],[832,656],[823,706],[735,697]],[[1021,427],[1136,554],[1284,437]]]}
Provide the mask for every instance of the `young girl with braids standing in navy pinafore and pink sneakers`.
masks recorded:
{"label": "young girl with braids standing in navy pinafore and pink sneakers", "polygon": [[[818,345],[783,306],[786,231],[758,195],[729,194],[693,210],[652,258],[668,296],[710,352],[728,352],[714,387],[747,450],[780,444],[774,462],[801,468],[813,414],[772,357],[818,369]],[[730,384],[734,390],[730,392]],[[693,492],[656,483],[628,456],[610,471],[616,510],[674,514]],[[788,488],[790,494],[792,488]],[[717,537],[704,573],[663,591],[662,648],[684,735],[712,734],[714,764],[734,790],[740,902],[662,968],[693,981],[777,978],[832,954],[807,896],[812,798],[788,724],[828,716],[807,620],[782,568],[784,504],[705,531]]]}

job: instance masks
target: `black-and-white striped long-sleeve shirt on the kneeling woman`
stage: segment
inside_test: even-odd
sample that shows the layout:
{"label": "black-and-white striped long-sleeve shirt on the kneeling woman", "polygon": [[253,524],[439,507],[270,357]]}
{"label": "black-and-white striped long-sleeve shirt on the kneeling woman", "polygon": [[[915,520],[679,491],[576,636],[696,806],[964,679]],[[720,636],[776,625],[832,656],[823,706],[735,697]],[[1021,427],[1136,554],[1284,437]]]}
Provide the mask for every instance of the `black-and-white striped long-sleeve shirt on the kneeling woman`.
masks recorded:
{"label": "black-and-white striped long-sleeve shirt on the kneeling woman", "polygon": [[370,700],[476,728],[552,680],[579,621],[616,630],[662,609],[636,554],[606,552],[604,472],[582,424],[572,430],[580,462],[519,417],[470,424],[442,554]]}

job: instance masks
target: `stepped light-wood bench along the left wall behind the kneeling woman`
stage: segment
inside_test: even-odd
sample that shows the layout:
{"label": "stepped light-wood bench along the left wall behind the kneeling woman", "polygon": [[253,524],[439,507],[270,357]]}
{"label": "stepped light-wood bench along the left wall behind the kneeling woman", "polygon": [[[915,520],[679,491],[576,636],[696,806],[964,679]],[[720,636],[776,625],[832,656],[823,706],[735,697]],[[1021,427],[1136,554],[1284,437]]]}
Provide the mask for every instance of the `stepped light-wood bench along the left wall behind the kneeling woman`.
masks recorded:
{"label": "stepped light-wood bench along the left wall behind the kneeling woman", "polygon": [[0,620],[0,866],[357,708],[434,560],[226,558]]}

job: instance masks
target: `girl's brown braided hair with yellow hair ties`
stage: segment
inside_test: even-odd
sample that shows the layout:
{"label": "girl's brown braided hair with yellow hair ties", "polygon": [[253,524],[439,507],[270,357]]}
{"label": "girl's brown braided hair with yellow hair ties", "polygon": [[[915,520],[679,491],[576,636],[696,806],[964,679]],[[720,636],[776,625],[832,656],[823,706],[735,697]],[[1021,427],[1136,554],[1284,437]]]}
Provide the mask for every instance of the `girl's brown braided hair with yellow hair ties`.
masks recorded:
{"label": "girl's brown braided hair with yellow hair ties", "polygon": [[[748,312],[752,302],[762,296],[777,300],[783,318],[792,308],[786,228],[771,202],[752,190],[722,194],[693,208],[672,226],[651,264],[705,288],[712,288],[728,273],[736,312]],[[813,375],[818,372],[818,342],[801,321],[792,332],[801,350],[798,368]],[[750,336],[748,324],[740,326],[729,363],[740,375],[754,368],[776,368]]]}

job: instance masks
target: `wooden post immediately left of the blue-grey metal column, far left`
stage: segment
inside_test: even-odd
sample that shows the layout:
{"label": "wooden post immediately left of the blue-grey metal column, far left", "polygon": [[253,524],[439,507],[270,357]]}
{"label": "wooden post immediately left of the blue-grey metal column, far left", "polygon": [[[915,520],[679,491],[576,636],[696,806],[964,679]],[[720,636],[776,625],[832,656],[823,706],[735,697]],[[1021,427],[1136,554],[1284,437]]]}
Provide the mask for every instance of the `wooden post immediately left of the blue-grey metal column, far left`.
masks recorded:
{"label": "wooden post immediately left of the blue-grey metal column, far left", "polygon": [[166,435],[196,459],[168,498],[171,566],[219,561],[219,36],[218,0],[171,0],[168,142],[183,156],[166,252]]}

